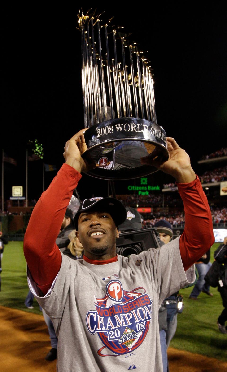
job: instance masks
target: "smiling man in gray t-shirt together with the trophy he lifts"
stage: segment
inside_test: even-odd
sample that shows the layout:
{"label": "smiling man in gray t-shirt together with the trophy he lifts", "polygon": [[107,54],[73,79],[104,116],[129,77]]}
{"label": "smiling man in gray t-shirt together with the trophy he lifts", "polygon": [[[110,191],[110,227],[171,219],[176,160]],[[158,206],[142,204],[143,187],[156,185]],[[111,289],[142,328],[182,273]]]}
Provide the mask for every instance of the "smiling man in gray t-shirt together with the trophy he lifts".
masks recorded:
{"label": "smiling man in gray t-shirt together with the trophy he lifts", "polygon": [[[107,51],[105,79],[99,19],[93,22],[94,17],[90,17],[90,20],[83,15],[79,18],[87,130],[80,130],[66,142],[65,164],[32,212],[24,237],[28,282],[53,321],[58,337],[58,371],[162,372],[158,309],[170,294],[194,282],[192,265],[214,242],[211,213],[188,154],[174,138],[166,137],[164,129],[156,123],[147,65],[136,54],[135,74],[129,46],[129,77],[125,39],[115,39],[114,30],[114,47],[116,41],[122,44],[123,68],[120,71],[116,53],[110,66],[105,25],[102,28]],[[98,42],[94,41],[95,23]],[[112,112],[109,120],[105,117],[106,102]],[[102,115],[104,121],[100,122]],[[123,179],[158,169],[171,174],[178,183],[185,210],[185,230],[181,237],[165,247],[151,248],[138,255],[117,255],[118,225],[126,219],[125,207],[114,198],[98,196],[85,199],[74,218],[76,235],[84,249],[83,259],[71,260],[62,255],[55,241],[73,190],[82,177],[80,173]]]}

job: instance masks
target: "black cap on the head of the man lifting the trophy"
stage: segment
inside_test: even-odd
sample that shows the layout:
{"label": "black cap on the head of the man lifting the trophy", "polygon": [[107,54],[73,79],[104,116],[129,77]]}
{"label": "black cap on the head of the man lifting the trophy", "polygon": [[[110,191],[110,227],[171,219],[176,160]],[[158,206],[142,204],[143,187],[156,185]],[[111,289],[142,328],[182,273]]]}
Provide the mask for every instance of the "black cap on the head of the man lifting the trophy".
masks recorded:
{"label": "black cap on the head of the man lifting the trophy", "polygon": [[79,209],[74,217],[76,230],[78,230],[78,219],[80,213],[89,211],[91,209],[95,210],[96,208],[103,209],[103,211],[108,212],[114,220],[116,226],[122,224],[127,216],[125,206],[118,199],[102,197],[85,199],[80,204]]}

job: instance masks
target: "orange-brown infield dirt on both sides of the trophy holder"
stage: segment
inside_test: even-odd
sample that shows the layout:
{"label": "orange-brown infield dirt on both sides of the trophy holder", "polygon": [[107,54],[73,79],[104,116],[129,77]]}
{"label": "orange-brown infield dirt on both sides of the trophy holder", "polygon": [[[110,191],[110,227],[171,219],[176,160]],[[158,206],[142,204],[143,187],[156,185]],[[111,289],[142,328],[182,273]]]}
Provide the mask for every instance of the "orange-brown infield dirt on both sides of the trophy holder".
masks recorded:
{"label": "orange-brown infield dirt on both sides of the trophy holder", "polygon": [[[47,362],[50,339],[42,315],[0,306],[0,366],[2,372],[55,372]],[[168,349],[170,372],[224,372],[227,362],[182,350]]]}

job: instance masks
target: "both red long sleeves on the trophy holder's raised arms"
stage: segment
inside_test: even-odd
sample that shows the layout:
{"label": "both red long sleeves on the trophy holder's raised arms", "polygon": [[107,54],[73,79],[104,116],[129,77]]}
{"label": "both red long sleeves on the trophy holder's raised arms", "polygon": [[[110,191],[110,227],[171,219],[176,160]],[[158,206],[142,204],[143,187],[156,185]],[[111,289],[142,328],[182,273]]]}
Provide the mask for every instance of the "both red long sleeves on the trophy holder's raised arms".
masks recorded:
{"label": "both red long sleeves on the trophy holder's raised arms", "polygon": [[[63,164],[48,189],[36,203],[24,235],[24,256],[33,280],[46,294],[60,270],[62,256],[55,241],[66,208],[81,174]],[[207,252],[214,243],[210,208],[200,180],[179,183],[184,202],[185,228],[180,237],[180,254],[184,269]]]}

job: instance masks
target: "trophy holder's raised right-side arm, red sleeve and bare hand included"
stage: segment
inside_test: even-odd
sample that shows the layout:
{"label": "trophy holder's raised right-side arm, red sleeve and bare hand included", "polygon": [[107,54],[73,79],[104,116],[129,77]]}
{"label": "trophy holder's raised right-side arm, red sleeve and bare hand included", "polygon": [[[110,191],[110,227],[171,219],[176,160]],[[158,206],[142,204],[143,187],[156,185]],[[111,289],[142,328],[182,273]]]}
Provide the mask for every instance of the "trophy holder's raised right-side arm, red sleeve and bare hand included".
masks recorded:
{"label": "trophy holder's raised right-side arm, red sleeve and bare hand included", "polygon": [[180,237],[180,253],[184,269],[187,270],[203,256],[214,243],[213,225],[207,197],[190,163],[188,154],[178,146],[174,138],[167,137],[170,159],[157,163],[142,158],[142,164],[152,164],[176,181],[184,202],[185,228]]}

